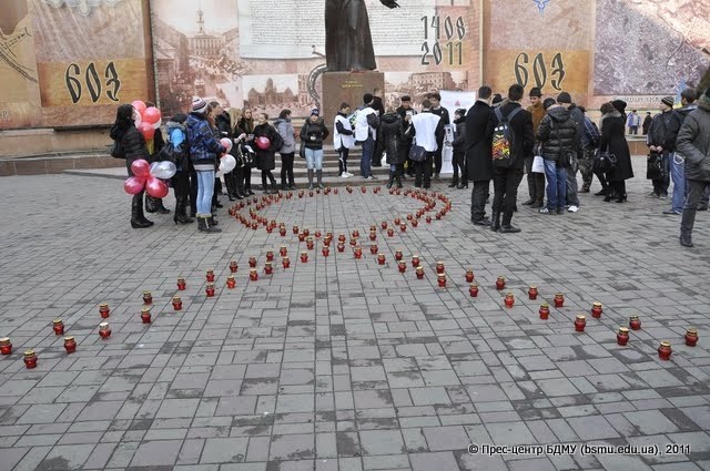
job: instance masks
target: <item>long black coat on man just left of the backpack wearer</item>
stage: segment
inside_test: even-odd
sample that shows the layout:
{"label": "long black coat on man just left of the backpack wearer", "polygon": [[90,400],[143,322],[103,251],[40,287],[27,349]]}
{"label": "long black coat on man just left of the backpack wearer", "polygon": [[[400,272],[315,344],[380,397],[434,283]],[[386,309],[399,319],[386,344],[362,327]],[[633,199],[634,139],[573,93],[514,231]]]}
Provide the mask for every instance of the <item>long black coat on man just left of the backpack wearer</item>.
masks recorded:
{"label": "long black coat on man just left of the backpack wearer", "polygon": [[471,182],[493,178],[493,161],[490,145],[493,134],[488,131],[488,123],[493,109],[487,103],[476,101],[466,113],[466,168]]}

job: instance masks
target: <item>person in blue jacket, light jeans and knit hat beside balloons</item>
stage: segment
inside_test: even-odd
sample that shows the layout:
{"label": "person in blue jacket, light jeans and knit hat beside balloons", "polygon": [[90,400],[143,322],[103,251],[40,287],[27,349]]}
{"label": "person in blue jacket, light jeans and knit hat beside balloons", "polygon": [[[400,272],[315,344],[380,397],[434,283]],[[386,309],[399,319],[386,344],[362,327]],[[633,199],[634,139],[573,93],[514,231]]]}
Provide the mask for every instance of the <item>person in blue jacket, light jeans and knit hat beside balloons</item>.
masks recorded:
{"label": "person in blue jacket, light jeans and knit hat beside balloons", "polygon": [[226,149],[214,139],[207,120],[207,102],[203,99],[192,101],[186,127],[190,158],[197,173],[197,228],[200,232],[220,233],[222,229],[215,227],[212,216],[212,194],[217,155],[225,153]]}

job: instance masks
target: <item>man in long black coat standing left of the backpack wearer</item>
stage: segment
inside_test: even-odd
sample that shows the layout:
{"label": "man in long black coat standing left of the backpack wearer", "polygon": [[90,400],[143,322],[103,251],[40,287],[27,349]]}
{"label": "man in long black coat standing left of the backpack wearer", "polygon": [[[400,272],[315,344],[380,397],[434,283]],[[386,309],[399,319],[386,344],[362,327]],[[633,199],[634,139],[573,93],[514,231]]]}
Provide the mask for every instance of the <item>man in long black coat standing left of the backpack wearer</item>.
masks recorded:
{"label": "man in long black coat standing left of the backpack wearer", "polygon": [[470,221],[477,226],[489,226],[486,217],[486,201],[490,195],[493,163],[490,161],[490,101],[493,90],[484,85],[478,89],[476,103],[466,113],[466,171],[474,182],[470,193]]}

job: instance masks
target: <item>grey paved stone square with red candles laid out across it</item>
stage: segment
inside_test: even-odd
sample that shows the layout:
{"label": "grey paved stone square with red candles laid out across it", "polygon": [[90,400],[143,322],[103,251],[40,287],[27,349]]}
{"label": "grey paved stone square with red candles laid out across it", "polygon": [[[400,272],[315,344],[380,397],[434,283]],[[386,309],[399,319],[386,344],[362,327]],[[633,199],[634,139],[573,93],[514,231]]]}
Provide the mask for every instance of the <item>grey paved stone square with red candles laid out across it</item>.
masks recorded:
{"label": "grey paved stone square with red candles laid out across it", "polygon": [[[710,470],[710,215],[699,214],[697,246],[683,249],[679,218],[661,215],[647,192],[640,177],[628,204],[581,195],[581,211],[564,216],[521,206],[514,221],[524,232],[498,235],[471,226],[469,194],[450,191],[443,221],[393,238],[381,232],[387,264],[378,266],[349,249],[311,252],[302,264],[291,231],[254,232],[226,215],[221,235],[171,216],[133,231],[115,180],[1,178],[0,337],[16,350],[0,357],[0,470]],[[410,198],[341,191],[264,214],[364,237],[369,224],[414,208]],[[292,267],[250,283],[248,257],[263,266],[282,244]],[[422,255],[425,279],[410,266],[397,273],[396,248]],[[240,269],[229,290],[232,259]],[[436,286],[438,259],[447,288]],[[467,267],[481,286],[476,299]],[[209,268],[214,298],[203,294]],[[497,275],[517,296],[511,309],[493,287]],[[170,305],[178,276],[187,279],[181,313]],[[530,284],[548,301],[565,293],[565,307],[540,320]],[[145,289],[155,299],[150,326],[139,319]],[[602,318],[576,334],[575,316],[595,300]],[[108,340],[98,336],[102,301],[112,308]],[[643,329],[619,347],[615,331],[631,314]],[[78,339],[74,355],[52,332],[58,317]],[[694,348],[682,341],[691,325]],[[662,339],[670,361],[656,355]],[[28,348],[39,355],[34,370],[22,364]],[[661,453],[480,454],[491,443]]]}

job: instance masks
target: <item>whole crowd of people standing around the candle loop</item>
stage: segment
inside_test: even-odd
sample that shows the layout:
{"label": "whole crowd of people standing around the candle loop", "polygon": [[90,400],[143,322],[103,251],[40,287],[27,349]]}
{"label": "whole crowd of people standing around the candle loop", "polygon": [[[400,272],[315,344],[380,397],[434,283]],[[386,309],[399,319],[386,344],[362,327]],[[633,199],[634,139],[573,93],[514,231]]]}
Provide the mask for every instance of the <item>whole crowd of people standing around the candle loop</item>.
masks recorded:
{"label": "whole crowd of people standing around the candle loop", "polygon": [[[490,226],[500,233],[520,232],[511,221],[517,211],[518,186],[526,173],[529,198],[523,205],[540,214],[577,213],[578,194],[590,192],[595,176],[601,185],[595,195],[604,196],[605,202],[625,203],[626,181],[633,177],[626,126],[637,132],[640,120],[636,111],[627,114],[627,104],[621,100],[605,103],[597,125],[567,92],[542,100],[541,91],[534,88],[528,94],[530,104],[525,109],[524,94],[518,84],[509,88],[505,99],[494,95],[490,86],[479,88],[476,103],[469,110],[454,113],[450,134],[445,130],[452,121],[438,93],[427,95],[417,112],[406,95],[400,98],[398,107],[385,110],[382,91],[375,90],[374,94],[363,96],[363,104],[354,113],[348,103],[342,103],[332,133],[317,109],[296,133],[290,110],[283,110],[272,125],[266,113],[254,117],[251,109],[223,110],[217,102],[195,98],[189,114],[178,113],[166,124],[169,142],[184,150],[172,178],[175,224],[192,224],[196,217],[200,231],[221,231],[215,219],[216,209],[222,207],[216,172],[224,153],[236,162],[234,170],[223,175],[230,201],[254,195],[251,187],[254,167],[262,172],[264,193],[296,188],[293,172],[296,136],[298,154],[306,161],[308,188],[324,187],[323,147],[331,135],[338,154],[339,177],[353,176],[347,158],[358,145],[359,175],[365,180],[375,178],[372,168],[382,166],[386,156],[387,187],[402,187],[407,175],[414,177],[415,187],[429,188],[432,177],[439,177],[444,146],[452,145],[454,176],[448,186],[467,188],[471,182],[473,224]],[[650,152],[647,177],[653,186],[648,197],[667,198],[672,181],[671,207],[663,213],[682,214],[680,243],[692,246],[696,211],[707,209],[710,196],[710,90],[698,94],[686,89],[681,104],[673,109],[673,99],[663,98],[661,112],[650,123],[648,116],[643,122]],[[133,125],[134,120],[135,110],[121,105],[111,131],[111,136],[123,144],[129,175],[133,161],[155,162],[164,145],[160,130],[145,141]],[[221,143],[223,137],[233,143],[231,149]],[[272,173],[276,153],[281,156],[278,186]],[[485,207],[491,182],[489,218]],[[151,196],[145,197],[145,209],[170,213],[162,199]],[[142,192],[133,197],[131,225],[135,228],[152,225],[143,213]]]}

